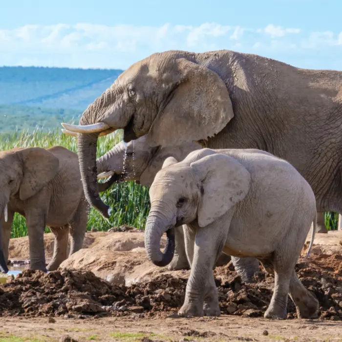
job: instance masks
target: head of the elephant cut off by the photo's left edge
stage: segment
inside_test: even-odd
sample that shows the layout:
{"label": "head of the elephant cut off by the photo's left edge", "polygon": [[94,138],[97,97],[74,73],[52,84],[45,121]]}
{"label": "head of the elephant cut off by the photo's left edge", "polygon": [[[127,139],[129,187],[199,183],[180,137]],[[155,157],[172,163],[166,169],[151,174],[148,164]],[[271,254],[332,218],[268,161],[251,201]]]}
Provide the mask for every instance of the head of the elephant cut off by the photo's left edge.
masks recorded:
{"label": "head of the elephant cut off by the photo's left edge", "polygon": [[[26,201],[59,171],[59,160],[41,148],[13,149],[0,152],[0,219],[7,220],[7,204],[11,199]],[[0,268],[8,268],[2,251],[0,229]]]}

